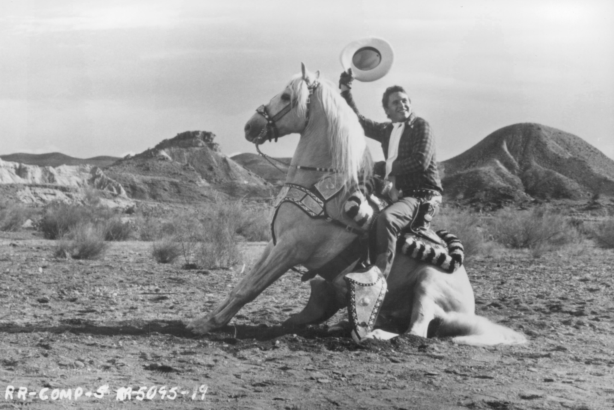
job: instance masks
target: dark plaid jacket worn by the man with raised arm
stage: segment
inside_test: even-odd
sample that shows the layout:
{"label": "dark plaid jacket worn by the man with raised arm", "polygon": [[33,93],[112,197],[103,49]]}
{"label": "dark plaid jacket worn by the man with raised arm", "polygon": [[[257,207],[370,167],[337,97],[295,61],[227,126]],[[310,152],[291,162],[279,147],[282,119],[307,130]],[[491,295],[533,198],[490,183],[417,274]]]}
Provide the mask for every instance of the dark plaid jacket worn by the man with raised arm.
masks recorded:
{"label": "dark plaid jacket worn by the man with raised arm", "polygon": [[[365,118],[358,111],[349,90],[343,91],[341,96],[358,115],[365,136],[379,141],[384,157],[388,158],[388,144],[394,128],[392,123],[379,123]],[[435,160],[435,136],[429,123],[416,117],[413,112],[405,122],[405,130],[398,142],[398,156],[392,163],[391,175],[395,176],[397,189],[405,192],[421,188],[443,192]]]}

